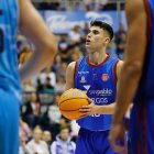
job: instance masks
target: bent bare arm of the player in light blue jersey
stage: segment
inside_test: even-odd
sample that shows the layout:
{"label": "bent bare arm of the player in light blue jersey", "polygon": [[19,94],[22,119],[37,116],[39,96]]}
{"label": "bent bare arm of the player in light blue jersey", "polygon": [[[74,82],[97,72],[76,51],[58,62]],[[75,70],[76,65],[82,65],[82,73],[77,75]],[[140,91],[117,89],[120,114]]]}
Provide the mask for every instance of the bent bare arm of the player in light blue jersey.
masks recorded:
{"label": "bent bare arm of the player in light blue jersey", "polygon": [[57,42],[46,28],[43,19],[33,8],[30,0],[20,1],[19,26],[21,32],[32,41],[36,47],[28,63],[20,70],[21,80],[28,80],[41,69],[51,65],[57,51]]}

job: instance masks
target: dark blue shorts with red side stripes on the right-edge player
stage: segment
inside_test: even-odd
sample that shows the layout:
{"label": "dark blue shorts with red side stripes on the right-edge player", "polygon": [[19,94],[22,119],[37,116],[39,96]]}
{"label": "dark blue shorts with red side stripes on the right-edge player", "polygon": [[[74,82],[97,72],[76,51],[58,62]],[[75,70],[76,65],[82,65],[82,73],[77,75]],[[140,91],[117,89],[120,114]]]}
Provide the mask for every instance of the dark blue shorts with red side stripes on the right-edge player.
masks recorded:
{"label": "dark blue shorts with red side stripes on the right-edge player", "polygon": [[131,154],[154,154],[154,99],[134,103],[130,121]]}

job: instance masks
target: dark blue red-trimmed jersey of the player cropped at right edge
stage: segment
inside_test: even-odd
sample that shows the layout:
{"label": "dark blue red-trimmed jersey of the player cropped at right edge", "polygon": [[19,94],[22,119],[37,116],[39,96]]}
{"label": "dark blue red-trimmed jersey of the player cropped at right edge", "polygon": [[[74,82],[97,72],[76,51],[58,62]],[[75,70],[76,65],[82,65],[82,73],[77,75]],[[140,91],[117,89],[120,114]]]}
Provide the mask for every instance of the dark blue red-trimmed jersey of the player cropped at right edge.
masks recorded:
{"label": "dark blue red-trimmed jersey of the player cropped at right edge", "polygon": [[144,69],[136,92],[136,100],[143,95],[148,98],[154,98],[154,1],[145,0],[145,7],[147,12],[147,45]]}

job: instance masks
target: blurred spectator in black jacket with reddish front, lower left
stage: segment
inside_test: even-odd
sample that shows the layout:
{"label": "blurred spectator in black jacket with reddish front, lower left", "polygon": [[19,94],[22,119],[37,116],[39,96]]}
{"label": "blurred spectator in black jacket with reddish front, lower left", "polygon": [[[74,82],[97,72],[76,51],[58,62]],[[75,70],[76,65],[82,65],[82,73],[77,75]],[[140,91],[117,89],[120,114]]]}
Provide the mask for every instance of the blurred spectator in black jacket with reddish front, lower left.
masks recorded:
{"label": "blurred spectator in black jacket with reddish front, lower left", "polygon": [[[25,111],[22,111],[23,120],[31,129],[40,124],[41,102],[35,92],[31,94],[31,100],[23,106]],[[22,107],[22,108],[23,108]]]}

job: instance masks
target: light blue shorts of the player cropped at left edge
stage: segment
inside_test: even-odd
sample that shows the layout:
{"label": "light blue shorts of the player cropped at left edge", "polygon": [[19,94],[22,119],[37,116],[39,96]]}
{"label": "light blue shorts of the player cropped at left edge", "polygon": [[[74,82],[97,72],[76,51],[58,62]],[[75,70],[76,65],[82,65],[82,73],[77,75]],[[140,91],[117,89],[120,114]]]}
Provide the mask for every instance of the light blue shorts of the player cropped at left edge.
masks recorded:
{"label": "light blue shorts of the player cropped at left edge", "polygon": [[0,154],[19,153],[19,100],[0,89]]}

